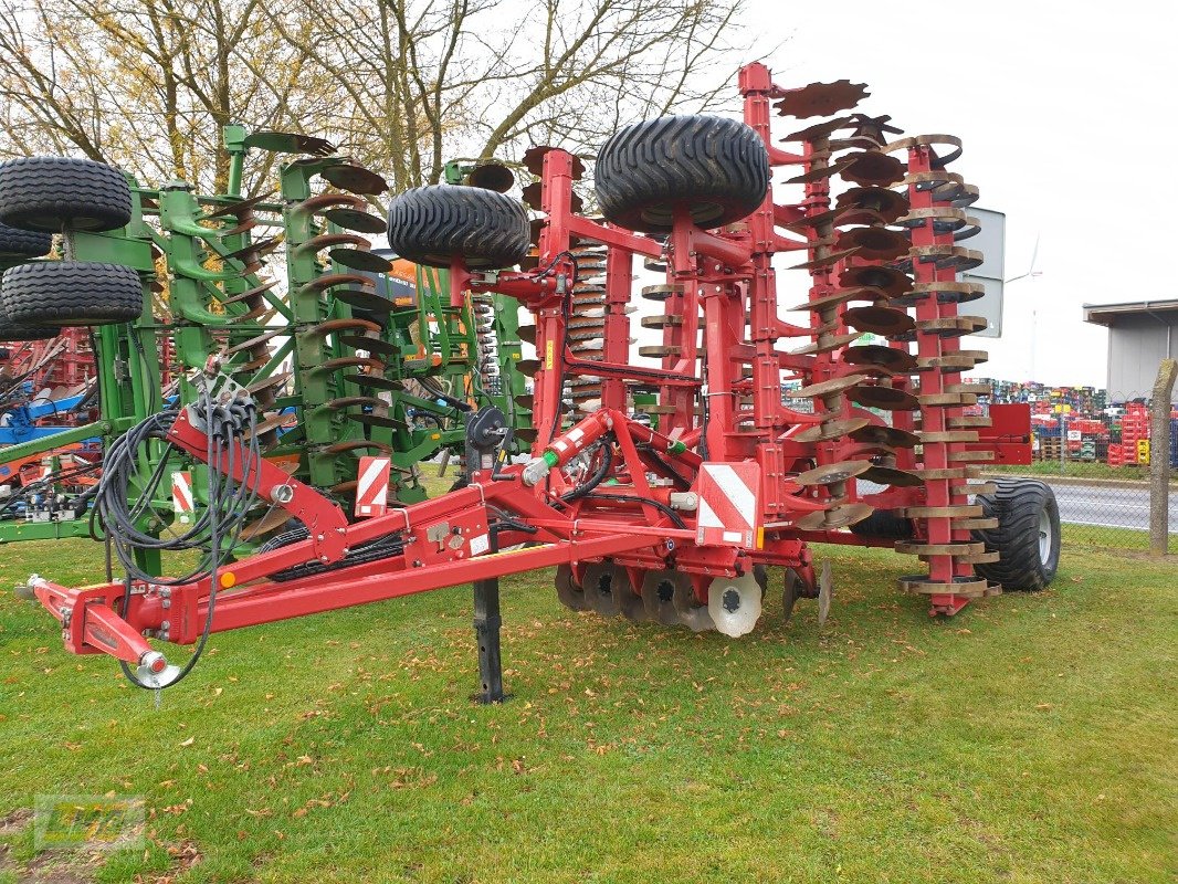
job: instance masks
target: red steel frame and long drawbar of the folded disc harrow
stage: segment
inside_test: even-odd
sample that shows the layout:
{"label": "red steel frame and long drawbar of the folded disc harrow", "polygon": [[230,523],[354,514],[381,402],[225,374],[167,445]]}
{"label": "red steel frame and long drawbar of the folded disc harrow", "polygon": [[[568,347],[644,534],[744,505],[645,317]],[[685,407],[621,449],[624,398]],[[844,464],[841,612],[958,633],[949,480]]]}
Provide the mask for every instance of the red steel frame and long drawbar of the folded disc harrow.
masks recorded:
{"label": "red steel frame and long drawbar of the folded disc harrow", "polygon": [[[768,68],[755,64],[742,70],[741,91],[744,119],[765,140],[774,167],[799,166],[810,171],[825,161],[828,153],[823,156],[812,144],[803,143],[798,153],[792,153],[772,143],[770,101],[785,95],[786,90],[773,84]],[[928,169],[933,159],[929,149],[915,149],[909,169]],[[459,260],[450,275],[455,303],[463,302],[469,291],[496,291],[518,298],[535,314],[540,369],[532,411],[538,430],[534,456],[547,455],[551,471],[543,481],[528,484],[523,481],[527,469],[523,466],[505,467],[495,477],[488,470],[474,469],[470,484],[461,490],[350,525],[336,504],[263,462],[249,476],[234,479],[304,522],[310,536],[250,556],[216,574],[213,632],[554,565],[571,565],[580,576],[588,563],[603,559],[628,568],[635,586],[641,585],[641,574],[650,569],[675,568],[688,573],[697,600],[707,603],[707,588],[715,576],[747,574],[755,563],[795,568],[803,582],[814,587],[808,548],[813,541],[891,545],[842,530],[801,532],[794,525],[807,514],[860,501],[853,480],[830,490],[799,484],[794,481],[798,474],[815,464],[873,453],[869,447],[849,441],[799,442],[795,438],[799,431],[823,420],[822,409],[801,413],[782,402],[785,380],[816,383],[848,371],[847,365],[835,362],[828,352],[807,354],[779,347],[782,339],[794,338],[799,343],[818,339],[819,332],[809,325],[794,325],[779,317],[773,259],[777,252],[803,252],[810,259],[826,253],[820,250],[829,242],[820,239],[814,229],[803,238],[793,238],[779,232],[779,227],[825,212],[830,204],[827,182],[807,185],[805,198],[790,204],[776,203],[770,187],[765,202],[744,223],[723,230],[701,230],[682,212],[675,218],[664,249],[649,237],[575,215],[571,206],[576,165],[575,158],[562,150],[549,150],[543,157],[545,217],[538,243],[542,270],[476,275]],[[913,206],[932,199],[914,189],[911,197]],[[938,236],[929,224],[927,230],[914,230],[913,242],[938,243]],[[585,240],[608,249],[604,350],[600,362],[577,359],[567,347],[563,302],[569,297],[575,273],[570,249]],[[630,321],[626,306],[633,295],[635,256],[667,260],[667,282],[673,286],[667,301],[668,315],[684,318],[664,326],[667,355],[659,368],[636,367],[629,358]],[[838,271],[848,265],[849,262],[815,268],[810,297],[833,291]],[[916,266],[918,282],[947,278],[945,271],[929,268]],[[941,316],[944,312],[939,311],[949,309],[955,310],[955,305],[938,305],[933,298],[918,306],[918,317]],[[702,347],[696,328],[700,318]],[[835,332],[846,331],[840,319]],[[934,352],[934,344],[918,336],[921,356],[940,356],[952,350],[954,343],[938,339],[937,347],[945,349]],[[577,375],[601,378],[601,408],[574,427],[564,428],[562,389],[569,377]],[[954,374],[926,376],[921,390],[940,390],[941,384],[958,380]],[[894,383],[904,385],[905,380]],[[673,405],[664,409],[659,431],[627,416],[627,392],[633,384],[656,387],[661,403]],[[884,423],[875,413],[849,404],[843,408],[848,415]],[[938,420],[952,414],[925,414],[925,429],[935,429]],[[902,425],[904,417],[898,415],[895,423]],[[912,425],[911,421],[907,425]],[[601,486],[591,499],[561,501],[560,495],[570,490],[570,484],[560,468],[607,434],[618,454],[611,474],[616,483]],[[204,457],[205,435],[190,423],[186,413],[177,420],[171,438],[193,457]],[[949,454],[957,449],[925,446],[924,463],[928,467],[948,463]],[[706,456],[701,450],[706,450]],[[236,462],[244,460],[243,454]],[[695,488],[701,467],[715,462],[752,462],[760,468],[757,504],[763,534],[754,548],[741,543],[701,545],[693,513],[682,513],[686,529],[676,528],[662,509],[646,502],[669,502],[668,487],[651,482],[649,474],[666,475],[673,470]],[[915,460],[912,453],[901,451],[898,462],[912,467]],[[947,506],[960,500],[959,487],[951,487],[947,481],[929,482],[927,490],[893,487],[863,500],[892,509],[926,501]],[[535,534],[503,532],[499,548],[525,540],[537,546],[484,553],[491,522],[499,513],[508,513],[536,530]],[[933,541],[962,537],[948,520],[928,520],[927,530]],[[337,563],[350,548],[391,534],[399,534],[404,542],[401,554],[346,570],[272,579],[278,572],[306,562]],[[971,573],[967,563],[952,558],[934,559],[931,567],[932,579],[939,581]],[[144,660],[151,651],[145,635],[178,644],[196,641],[213,595],[212,579],[174,587],[133,583],[130,600],[124,598],[126,588],[118,582],[67,589],[39,579],[33,588],[41,603],[62,622],[64,639],[71,651],[104,652],[131,664]],[[964,603],[964,598],[952,594],[933,596],[934,609],[945,613],[953,613]]]}

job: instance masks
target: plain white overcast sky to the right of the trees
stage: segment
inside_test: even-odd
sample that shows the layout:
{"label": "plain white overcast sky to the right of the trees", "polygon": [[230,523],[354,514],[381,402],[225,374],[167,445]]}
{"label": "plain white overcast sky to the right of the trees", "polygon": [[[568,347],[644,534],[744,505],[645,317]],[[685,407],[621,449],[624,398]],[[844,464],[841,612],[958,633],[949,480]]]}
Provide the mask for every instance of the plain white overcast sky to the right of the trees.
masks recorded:
{"label": "plain white overcast sky to the right of the trees", "polygon": [[974,374],[1027,380],[1033,358],[1037,380],[1103,387],[1107,336],[1080,305],[1178,298],[1174,5],[749,6],[763,39],[785,41],[766,58],[779,85],[867,83],[862,110],[965,139],[952,169],[1006,213],[1007,277],[1041,237],[1041,276],[1007,286],[1002,338],[967,339],[992,354]]}

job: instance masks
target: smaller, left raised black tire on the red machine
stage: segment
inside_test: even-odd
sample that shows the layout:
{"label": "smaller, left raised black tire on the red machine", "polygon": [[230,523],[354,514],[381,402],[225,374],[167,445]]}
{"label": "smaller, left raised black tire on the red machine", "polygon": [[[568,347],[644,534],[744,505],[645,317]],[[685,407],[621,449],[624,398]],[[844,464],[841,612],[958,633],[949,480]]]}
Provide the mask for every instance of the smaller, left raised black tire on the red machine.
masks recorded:
{"label": "smaller, left raised black tire on the red machine", "polygon": [[483,187],[413,187],[389,204],[389,248],[415,264],[449,268],[463,258],[472,270],[510,268],[530,240],[523,204]]}

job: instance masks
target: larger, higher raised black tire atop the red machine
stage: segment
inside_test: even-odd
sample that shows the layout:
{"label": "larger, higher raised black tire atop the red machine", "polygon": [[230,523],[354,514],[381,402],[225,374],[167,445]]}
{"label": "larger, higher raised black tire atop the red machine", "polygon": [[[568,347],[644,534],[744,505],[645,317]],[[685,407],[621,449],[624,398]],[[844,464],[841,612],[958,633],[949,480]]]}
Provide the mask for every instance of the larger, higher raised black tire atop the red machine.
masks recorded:
{"label": "larger, higher raised black tire atop the red machine", "polygon": [[594,174],[602,215],[627,230],[668,231],[676,209],[700,227],[719,227],[765,200],[769,154],[740,120],[661,117],[615,133]]}

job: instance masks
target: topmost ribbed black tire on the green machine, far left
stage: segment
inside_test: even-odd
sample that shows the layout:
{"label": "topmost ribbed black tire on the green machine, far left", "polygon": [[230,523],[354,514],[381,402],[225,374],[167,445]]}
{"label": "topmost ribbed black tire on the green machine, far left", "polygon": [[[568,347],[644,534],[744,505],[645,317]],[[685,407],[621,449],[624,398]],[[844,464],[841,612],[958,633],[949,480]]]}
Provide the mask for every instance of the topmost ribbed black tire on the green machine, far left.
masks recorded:
{"label": "topmost ribbed black tire on the green machine, far left", "polygon": [[131,220],[131,185],[114,166],[72,157],[0,163],[0,223],[21,230],[117,230]]}

